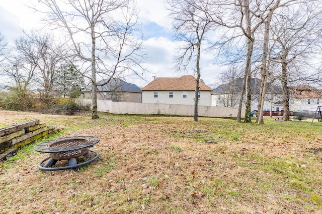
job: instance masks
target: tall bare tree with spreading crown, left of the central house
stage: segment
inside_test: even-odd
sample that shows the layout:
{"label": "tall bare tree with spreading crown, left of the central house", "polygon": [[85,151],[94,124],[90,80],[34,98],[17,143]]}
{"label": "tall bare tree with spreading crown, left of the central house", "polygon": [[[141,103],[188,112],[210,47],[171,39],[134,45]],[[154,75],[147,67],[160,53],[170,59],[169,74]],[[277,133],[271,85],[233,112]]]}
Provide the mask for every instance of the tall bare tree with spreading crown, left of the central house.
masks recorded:
{"label": "tall bare tree with spreading crown, left of the central house", "polygon": [[[142,69],[143,37],[139,35],[137,13],[132,0],[39,0],[48,11],[44,21],[49,27],[62,30],[69,40],[65,46],[70,56],[83,62],[92,83],[92,118],[97,112],[97,75],[113,77],[126,71]],[[37,7],[33,7],[37,10]],[[37,10],[39,11],[39,10]],[[86,75],[86,74],[85,74]],[[102,84],[102,85],[104,85]]]}

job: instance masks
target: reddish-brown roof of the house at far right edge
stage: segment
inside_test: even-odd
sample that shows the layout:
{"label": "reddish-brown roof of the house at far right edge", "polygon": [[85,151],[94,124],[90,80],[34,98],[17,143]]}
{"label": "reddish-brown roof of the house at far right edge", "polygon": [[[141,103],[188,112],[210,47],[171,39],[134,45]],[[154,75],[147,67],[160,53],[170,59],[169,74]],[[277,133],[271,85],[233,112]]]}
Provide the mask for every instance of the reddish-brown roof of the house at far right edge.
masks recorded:
{"label": "reddish-brown roof of the house at far right edge", "polygon": [[292,98],[322,98],[321,90],[308,85],[290,87],[290,92]]}

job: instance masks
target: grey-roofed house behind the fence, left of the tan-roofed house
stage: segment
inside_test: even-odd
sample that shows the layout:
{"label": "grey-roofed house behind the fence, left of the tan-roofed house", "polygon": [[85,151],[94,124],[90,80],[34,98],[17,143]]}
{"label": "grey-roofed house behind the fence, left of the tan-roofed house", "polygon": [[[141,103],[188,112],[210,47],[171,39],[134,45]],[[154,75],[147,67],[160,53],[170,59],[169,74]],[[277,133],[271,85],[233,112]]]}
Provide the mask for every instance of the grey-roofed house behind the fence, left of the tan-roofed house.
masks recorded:
{"label": "grey-roofed house behind the fence, left of the tan-roofed house", "polygon": [[[97,84],[104,84],[107,80],[103,79]],[[83,98],[92,99],[92,85],[82,90]],[[136,102],[142,101],[141,89],[135,84],[127,83],[120,78],[111,79],[108,84],[97,87],[98,100],[112,100],[116,102]]]}

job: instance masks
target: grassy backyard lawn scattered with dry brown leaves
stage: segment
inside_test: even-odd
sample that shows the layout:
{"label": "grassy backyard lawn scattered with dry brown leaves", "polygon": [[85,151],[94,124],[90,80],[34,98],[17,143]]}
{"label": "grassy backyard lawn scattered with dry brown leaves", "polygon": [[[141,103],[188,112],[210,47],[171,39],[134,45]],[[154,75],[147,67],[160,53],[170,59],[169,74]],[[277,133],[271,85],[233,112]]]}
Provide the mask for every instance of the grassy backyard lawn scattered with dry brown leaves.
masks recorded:
{"label": "grassy backyard lawn scattered with dry brown leaves", "polygon": [[0,127],[40,119],[54,138],[101,138],[78,170],[39,170],[39,142],[0,162],[0,213],[321,213],[317,122],[0,113]]}

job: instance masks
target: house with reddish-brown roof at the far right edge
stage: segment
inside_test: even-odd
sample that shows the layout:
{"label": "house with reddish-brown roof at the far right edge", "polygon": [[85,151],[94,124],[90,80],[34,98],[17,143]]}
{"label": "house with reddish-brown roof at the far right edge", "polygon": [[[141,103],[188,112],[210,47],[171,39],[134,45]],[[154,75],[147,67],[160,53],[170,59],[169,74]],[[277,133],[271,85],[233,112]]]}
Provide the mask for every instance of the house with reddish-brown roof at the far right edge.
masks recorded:
{"label": "house with reddish-brown roof at the far right edge", "polygon": [[317,106],[320,105],[322,105],[322,90],[308,85],[290,87],[290,110],[315,113]]}

